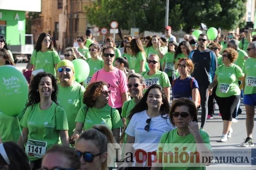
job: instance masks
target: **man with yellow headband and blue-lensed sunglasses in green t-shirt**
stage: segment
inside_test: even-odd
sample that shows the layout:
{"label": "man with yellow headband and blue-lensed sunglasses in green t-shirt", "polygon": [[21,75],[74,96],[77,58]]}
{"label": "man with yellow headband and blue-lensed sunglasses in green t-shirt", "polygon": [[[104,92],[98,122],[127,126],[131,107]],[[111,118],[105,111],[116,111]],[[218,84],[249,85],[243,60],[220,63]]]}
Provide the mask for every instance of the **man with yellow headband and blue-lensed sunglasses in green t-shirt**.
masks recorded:
{"label": "man with yellow headband and blue-lensed sunglasses in green t-shirt", "polygon": [[57,77],[59,79],[58,103],[66,112],[68,119],[68,136],[72,136],[76,128],[76,115],[83,104],[85,87],[75,81],[74,65],[70,60],[61,60],[57,64]]}

